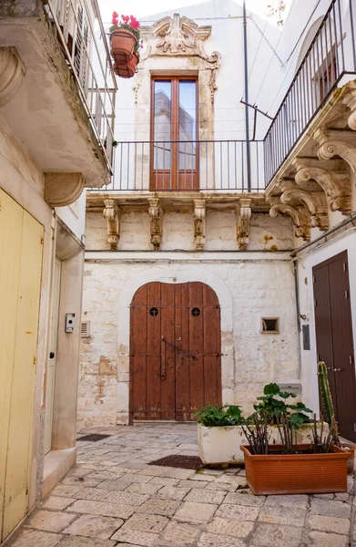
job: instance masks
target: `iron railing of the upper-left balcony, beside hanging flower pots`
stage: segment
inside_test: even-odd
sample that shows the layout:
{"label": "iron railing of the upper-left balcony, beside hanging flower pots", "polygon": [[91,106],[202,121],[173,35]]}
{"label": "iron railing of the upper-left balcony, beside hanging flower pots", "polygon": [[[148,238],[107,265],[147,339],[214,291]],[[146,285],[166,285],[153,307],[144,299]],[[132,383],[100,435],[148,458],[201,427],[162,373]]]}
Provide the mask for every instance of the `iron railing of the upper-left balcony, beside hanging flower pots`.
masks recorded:
{"label": "iron railing of the upper-left balcony, beside hanging flower pots", "polygon": [[[107,169],[113,173],[117,82],[97,0],[48,0],[46,12],[76,79]],[[96,21],[99,33],[95,31]],[[103,45],[99,45],[96,35],[100,36]]]}

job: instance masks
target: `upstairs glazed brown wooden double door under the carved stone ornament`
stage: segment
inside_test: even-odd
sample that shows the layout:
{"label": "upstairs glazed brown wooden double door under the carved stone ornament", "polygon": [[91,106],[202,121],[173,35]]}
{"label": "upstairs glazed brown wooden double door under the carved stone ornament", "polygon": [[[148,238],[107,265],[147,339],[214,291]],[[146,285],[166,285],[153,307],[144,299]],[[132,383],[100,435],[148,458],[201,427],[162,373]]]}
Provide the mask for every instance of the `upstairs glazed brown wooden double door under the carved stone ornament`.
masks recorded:
{"label": "upstairs glazed brown wooden double door under the carved stone ornament", "polygon": [[150,189],[198,190],[198,79],[154,77],[151,112]]}

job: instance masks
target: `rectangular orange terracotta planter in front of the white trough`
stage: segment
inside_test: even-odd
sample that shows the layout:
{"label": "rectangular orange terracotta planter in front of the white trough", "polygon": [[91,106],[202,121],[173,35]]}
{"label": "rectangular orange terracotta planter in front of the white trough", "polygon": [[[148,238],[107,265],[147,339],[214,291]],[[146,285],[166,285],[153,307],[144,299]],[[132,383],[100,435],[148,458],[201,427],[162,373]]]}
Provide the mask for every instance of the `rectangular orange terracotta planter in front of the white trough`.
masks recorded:
{"label": "rectangular orange terracotta planter in front of the white trough", "polygon": [[[300,451],[310,444],[296,445]],[[332,446],[330,454],[273,454],[282,449],[271,445],[270,454],[255,456],[241,446],[246,480],[257,496],[269,494],[327,494],[347,491],[347,460],[350,452]]]}

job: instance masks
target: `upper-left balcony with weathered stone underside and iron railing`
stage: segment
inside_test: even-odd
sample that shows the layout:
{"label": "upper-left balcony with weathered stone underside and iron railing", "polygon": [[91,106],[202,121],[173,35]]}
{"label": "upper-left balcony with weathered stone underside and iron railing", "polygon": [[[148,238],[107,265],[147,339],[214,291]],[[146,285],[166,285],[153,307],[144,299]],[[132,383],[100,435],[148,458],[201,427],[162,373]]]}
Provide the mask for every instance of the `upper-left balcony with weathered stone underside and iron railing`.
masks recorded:
{"label": "upper-left balcony with weathered stone underside and iron railing", "polygon": [[0,5],[0,49],[10,46],[22,81],[2,118],[42,170],[107,184],[117,83],[97,0],[12,4]]}

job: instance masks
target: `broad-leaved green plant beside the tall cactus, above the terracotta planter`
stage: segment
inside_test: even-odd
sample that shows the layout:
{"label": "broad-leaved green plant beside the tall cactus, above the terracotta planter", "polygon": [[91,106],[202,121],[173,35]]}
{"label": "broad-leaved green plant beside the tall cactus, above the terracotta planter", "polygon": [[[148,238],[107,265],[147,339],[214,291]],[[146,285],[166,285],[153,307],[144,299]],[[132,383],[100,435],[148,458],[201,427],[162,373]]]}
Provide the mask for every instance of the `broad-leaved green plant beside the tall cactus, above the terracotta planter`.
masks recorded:
{"label": "broad-leaved green plant beside the tall cactus, above the terracotta planter", "polygon": [[[257,413],[263,412],[265,414],[269,425],[277,425],[280,416],[287,413],[291,426],[299,429],[303,424],[310,423],[307,414],[311,413],[312,410],[301,402],[295,405],[288,404],[286,400],[290,397],[295,398],[297,396],[288,391],[281,391],[278,384],[271,383],[263,388],[263,396],[257,397],[260,402],[253,405],[253,408]],[[253,416],[250,418],[253,418]]]}

